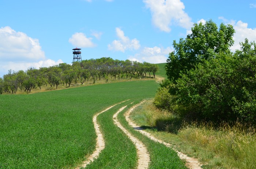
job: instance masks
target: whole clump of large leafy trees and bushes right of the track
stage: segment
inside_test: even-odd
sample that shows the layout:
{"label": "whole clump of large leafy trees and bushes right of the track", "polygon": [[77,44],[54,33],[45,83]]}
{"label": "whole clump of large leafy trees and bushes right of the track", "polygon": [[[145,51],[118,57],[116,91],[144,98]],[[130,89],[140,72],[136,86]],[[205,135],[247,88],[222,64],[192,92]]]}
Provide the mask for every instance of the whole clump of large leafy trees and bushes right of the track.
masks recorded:
{"label": "whole clump of large leafy trees and bushes right of the track", "polygon": [[218,29],[209,20],[174,41],[154,104],[187,119],[256,125],[256,44],[245,39],[231,52],[233,34],[231,25]]}

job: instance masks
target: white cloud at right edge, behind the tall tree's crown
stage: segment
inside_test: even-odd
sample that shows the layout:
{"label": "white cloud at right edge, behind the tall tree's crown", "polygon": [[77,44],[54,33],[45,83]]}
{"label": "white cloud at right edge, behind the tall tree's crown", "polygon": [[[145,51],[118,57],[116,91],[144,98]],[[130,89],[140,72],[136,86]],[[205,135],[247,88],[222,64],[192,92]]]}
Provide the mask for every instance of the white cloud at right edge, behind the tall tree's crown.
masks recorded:
{"label": "white cloud at right edge, behind the tall tree's crown", "polygon": [[244,39],[247,38],[249,42],[256,41],[256,28],[248,28],[248,24],[239,21],[234,20],[226,20],[223,17],[219,17],[219,19],[222,19],[226,24],[233,25],[234,30],[236,33],[233,36],[234,39],[234,45],[230,48],[231,51],[235,51],[236,49],[240,49],[239,42],[244,42]]}

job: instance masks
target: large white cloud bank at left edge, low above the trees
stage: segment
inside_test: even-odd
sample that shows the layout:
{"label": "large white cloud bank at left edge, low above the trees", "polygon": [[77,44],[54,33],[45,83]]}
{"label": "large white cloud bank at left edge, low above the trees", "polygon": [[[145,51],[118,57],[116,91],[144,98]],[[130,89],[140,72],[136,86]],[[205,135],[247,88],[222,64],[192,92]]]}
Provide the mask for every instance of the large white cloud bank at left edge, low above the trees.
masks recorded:
{"label": "large white cloud bank at left edge, low above the trees", "polygon": [[16,32],[8,26],[0,28],[0,77],[10,69],[26,71],[30,67],[49,67],[59,63],[63,61],[45,57],[38,39]]}

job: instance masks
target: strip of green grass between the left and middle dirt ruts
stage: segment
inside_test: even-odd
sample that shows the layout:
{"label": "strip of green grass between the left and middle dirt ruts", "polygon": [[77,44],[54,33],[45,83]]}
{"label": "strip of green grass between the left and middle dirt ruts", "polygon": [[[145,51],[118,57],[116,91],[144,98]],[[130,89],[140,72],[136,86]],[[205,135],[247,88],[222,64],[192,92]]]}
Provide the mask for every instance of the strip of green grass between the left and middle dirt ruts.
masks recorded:
{"label": "strip of green grass between the left and middle dirt ruts", "polygon": [[[130,101],[129,101],[130,102]],[[132,141],[113,123],[113,114],[129,102],[122,103],[98,116],[105,139],[105,149],[86,169],[132,169],[137,166],[137,154]]]}

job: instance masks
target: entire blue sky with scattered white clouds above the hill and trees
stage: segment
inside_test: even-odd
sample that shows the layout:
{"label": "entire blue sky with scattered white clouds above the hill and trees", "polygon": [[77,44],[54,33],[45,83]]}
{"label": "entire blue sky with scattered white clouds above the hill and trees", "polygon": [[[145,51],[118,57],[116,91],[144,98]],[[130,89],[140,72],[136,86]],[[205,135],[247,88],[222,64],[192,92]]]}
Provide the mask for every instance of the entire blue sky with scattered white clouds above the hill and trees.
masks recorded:
{"label": "entire blue sky with scattered white clouds above the hill and trees", "polygon": [[234,46],[256,41],[256,0],[0,0],[0,77],[82,60],[165,63],[194,23],[233,25]]}

